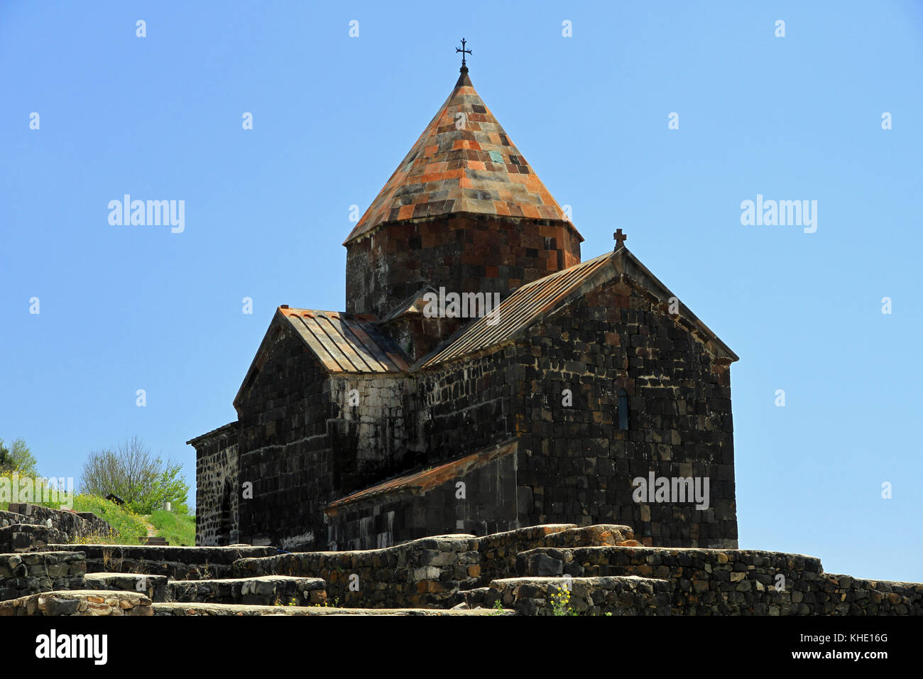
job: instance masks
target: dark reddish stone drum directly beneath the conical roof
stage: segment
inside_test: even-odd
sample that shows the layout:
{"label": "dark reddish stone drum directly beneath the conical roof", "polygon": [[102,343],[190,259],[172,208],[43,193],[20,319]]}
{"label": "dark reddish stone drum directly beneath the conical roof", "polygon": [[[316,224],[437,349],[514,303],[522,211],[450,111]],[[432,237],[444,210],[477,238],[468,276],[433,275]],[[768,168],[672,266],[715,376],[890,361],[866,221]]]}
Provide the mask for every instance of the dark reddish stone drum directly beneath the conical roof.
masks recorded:
{"label": "dark reddish stone drum directly beneath the conical roof", "polygon": [[346,246],[346,310],[384,318],[421,287],[500,293],[580,262],[565,222],[453,215],[399,222]]}

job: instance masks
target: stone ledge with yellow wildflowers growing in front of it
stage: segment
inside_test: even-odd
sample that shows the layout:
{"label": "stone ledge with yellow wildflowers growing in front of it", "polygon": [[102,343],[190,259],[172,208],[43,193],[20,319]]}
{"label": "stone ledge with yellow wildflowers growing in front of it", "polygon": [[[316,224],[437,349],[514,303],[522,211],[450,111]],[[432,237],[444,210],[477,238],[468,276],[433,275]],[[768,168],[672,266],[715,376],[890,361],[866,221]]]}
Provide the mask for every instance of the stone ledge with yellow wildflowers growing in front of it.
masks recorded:
{"label": "stone ledge with yellow wildflowers growing in front of it", "polygon": [[506,577],[490,583],[485,607],[499,601],[521,615],[670,615],[672,591],[650,577]]}

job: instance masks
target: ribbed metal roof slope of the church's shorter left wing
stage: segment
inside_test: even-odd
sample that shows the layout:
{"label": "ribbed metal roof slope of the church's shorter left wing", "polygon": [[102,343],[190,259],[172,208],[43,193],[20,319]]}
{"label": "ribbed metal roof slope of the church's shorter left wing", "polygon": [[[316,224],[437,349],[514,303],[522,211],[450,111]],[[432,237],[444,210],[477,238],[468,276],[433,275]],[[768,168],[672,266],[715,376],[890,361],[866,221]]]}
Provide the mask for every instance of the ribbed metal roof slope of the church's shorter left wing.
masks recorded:
{"label": "ribbed metal roof slope of the church's shorter left wing", "polygon": [[279,311],[330,372],[410,369],[401,349],[372,325],[374,316],[282,307]]}

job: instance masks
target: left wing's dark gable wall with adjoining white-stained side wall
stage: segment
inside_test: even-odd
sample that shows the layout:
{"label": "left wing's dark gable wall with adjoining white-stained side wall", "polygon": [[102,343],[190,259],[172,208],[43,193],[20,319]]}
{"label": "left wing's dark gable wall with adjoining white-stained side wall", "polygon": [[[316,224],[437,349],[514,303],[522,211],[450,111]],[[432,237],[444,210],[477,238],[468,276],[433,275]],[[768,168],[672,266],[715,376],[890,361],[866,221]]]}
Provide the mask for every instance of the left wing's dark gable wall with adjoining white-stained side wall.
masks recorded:
{"label": "left wing's dark gable wall with adjoining white-stained side wall", "polygon": [[265,348],[236,404],[237,482],[253,484],[252,499],[239,501],[239,540],[325,549],[327,504],[420,463],[403,420],[413,381],[331,375],[282,323]]}

